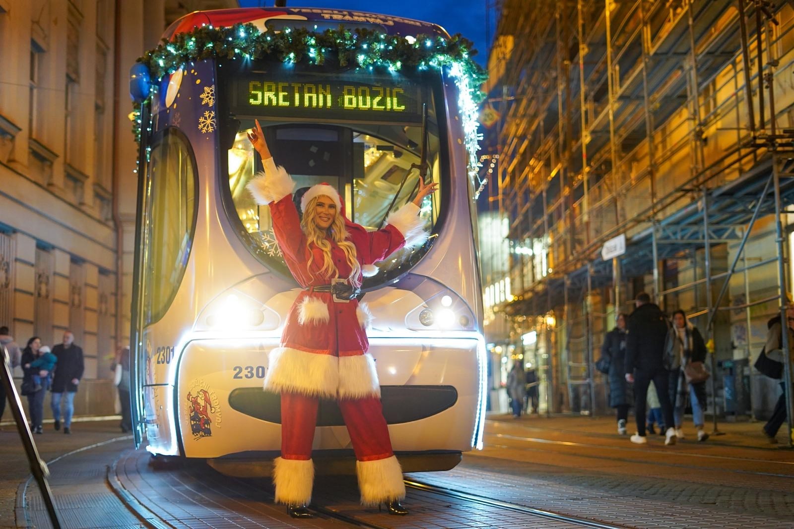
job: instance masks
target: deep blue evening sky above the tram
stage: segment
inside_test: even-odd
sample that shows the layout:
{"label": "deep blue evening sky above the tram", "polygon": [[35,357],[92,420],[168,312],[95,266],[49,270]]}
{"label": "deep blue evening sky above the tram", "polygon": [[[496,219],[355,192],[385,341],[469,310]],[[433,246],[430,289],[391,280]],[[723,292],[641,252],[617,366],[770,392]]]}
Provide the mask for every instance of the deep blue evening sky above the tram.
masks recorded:
{"label": "deep blue evening sky above the tram", "polygon": [[[273,0],[239,2],[241,7],[273,6]],[[433,22],[441,25],[450,35],[462,33],[468,40],[473,40],[478,52],[477,62],[485,66],[488,58],[488,46],[485,42],[485,2],[486,0],[287,0],[287,6],[368,11]]]}

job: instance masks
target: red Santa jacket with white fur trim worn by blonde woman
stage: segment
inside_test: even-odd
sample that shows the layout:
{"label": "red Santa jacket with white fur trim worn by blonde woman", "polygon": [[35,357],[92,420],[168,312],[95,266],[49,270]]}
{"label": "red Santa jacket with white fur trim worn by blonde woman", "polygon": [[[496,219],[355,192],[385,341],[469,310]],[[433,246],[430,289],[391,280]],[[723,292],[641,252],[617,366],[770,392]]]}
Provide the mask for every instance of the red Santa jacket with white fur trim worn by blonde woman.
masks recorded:
{"label": "red Santa jacket with white fur trim worn by blonde woman", "polygon": [[[295,183],[272,159],[264,160],[264,170],[249,183],[249,190],[257,203],[270,204],[273,232],[292,275],[304,288],[330,285],[331,278],[320,274],[322,250],[306,244],[300,227],[291,197]],[[347,221],[347,240],[356,247],[360,265],[386,259],[404,244],[421,240],[418,211],[412,203],[403,205],[387,217],[383,229],[375,232]],[[351,269],[345,253],[336,243],[329,242],[338,277],[347,278]],[[311,255],[314,258],[309,264]],[[326,398],[380,395],[375,361],[367,353],[366,327],[370,318],[366,305],[355,299],[339,302],[327,292],[299,293],[287,315],[281,345],[268,355],[265,389]]]}

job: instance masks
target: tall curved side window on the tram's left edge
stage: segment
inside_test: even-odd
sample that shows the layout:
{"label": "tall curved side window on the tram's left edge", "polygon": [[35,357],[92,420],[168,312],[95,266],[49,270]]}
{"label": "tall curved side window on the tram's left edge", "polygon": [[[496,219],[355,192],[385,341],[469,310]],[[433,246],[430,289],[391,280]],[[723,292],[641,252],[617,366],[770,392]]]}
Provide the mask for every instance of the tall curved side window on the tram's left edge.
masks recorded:
{"label": "tall curved side window on the tram's left edge", "polygon": [[168,310],[182,282],[195,232],[195,158],[187,139],[166,128],[152,142],[145,197],[144,324]]}

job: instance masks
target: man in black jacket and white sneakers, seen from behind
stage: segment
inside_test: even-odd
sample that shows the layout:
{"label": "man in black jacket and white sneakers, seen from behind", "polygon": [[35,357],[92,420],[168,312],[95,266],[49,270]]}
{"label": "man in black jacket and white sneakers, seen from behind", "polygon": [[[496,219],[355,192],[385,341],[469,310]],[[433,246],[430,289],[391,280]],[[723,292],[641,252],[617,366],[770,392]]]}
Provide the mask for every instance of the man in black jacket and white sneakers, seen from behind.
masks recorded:
{"label": "man in black jacket and white sneakers, seen from behind", "polygon": [[[657,388],[661,412],[665,424],[675,424],[673,406],[665,389],[669,387],[669,371],[664,365],[667,320],[658,305],[650,302],[650,296],[641,292],[635,300],[637,309],[629,318],[629,334],[626,336],[626,381],[634,382],[634,415],[637,433],[631,436],[632,443],[644,444],[646,439],[646,394],[653,380]],[[668,427],[665,444],[676,443],[676,429]]]}

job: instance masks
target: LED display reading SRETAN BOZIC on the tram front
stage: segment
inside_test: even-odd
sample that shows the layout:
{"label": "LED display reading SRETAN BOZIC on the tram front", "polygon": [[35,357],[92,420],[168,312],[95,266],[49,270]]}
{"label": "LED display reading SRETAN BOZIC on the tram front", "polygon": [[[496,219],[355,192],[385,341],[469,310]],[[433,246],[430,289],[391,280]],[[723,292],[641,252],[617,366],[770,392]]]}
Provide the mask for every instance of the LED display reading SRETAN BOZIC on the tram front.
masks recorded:
{"label": "LED display reading SRETAN BOZIC on the tram front", "polygon": [[354,82],[325,79],[275,79],[266,76],[233,80],[237,113],[278,117],[388,119],[422,117],[419,86],[400,80]]}

